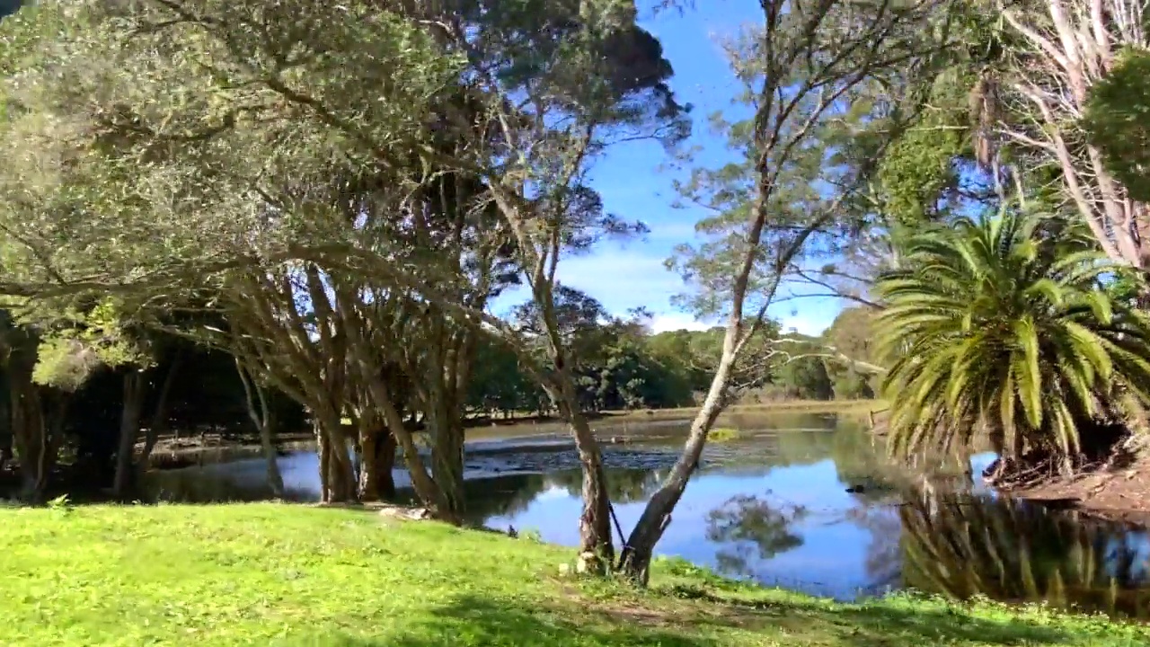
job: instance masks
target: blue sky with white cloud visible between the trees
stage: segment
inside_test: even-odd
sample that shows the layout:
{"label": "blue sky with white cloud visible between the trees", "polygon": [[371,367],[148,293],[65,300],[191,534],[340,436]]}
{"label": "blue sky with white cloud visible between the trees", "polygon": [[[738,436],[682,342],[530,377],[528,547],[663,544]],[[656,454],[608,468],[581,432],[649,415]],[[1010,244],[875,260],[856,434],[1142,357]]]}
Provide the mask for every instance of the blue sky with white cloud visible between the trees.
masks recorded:
{"label": "blue sky with white cloud visible between the trees", "polygon": [[[641,0],[642,2],[642,0]],[[716,37],[735,33],[742,24],[761,20],[761,8],[753,0],[707,0],[684,15],[665,12],[646,16],[644,26],[658,36],[665,55],[675,68],[672,86],[680,101],[695,106],[692,144],[703,147],[705,158],[722,161],[723,142],[711,136],[706,117],[726,109],[738,92]],[[591,170],[592,185],[603,196],[611,213],[644,221],[651,229],[643,239],[607,242],[593,253],[567,257],[560,261],[559,280],[599,299],[614,314],[645,306],[656,314],[656,332],[678,328],[705,328],[672,305],[670,298],[683,291],[677,274],[664,261],[678,243],[695,239],[698,210],[674,208],[672,176],[660,173],[667,161],[657,143],[631,143],[613,147]],[[497,307],[521,302],[526,294],[505,295]],[[800,298],[781,303],[770,314],[783,329],[818,334],[838,314],[842,305],[831,298]]]}

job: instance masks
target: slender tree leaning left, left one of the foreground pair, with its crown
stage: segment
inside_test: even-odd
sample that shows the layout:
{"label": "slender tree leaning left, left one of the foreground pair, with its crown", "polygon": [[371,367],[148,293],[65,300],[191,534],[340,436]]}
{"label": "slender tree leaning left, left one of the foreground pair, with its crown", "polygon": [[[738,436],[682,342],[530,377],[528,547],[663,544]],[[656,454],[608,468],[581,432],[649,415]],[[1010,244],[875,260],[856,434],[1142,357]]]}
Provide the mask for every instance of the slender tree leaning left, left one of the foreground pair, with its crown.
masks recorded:
{"label": "slender tree leaning left, left one of the foreground pair, with its crown", "polygon": [[[515,260],[537,307],[549,366],[531,372],[575,437],[584,478],[580,560],[603,570],[613,556],[606,477],[581,410],[557,312],[555,272],[564,253],[637,230],[604,212],[588,185],[593,159],[614,142],[681,137],[688,122],[666,85],[670,64],[659,41],[636,26],[630,2],[475,2],[462,9],[425,9],[420,17],[437,26],[451,51],[474,61],[470,96],[492,128],[480,134],[469,161],[482,169],[511,228]],[[520,330],[488,324],[514,347],[530,348]],[[529,352],[522,357],[534,364]]]}

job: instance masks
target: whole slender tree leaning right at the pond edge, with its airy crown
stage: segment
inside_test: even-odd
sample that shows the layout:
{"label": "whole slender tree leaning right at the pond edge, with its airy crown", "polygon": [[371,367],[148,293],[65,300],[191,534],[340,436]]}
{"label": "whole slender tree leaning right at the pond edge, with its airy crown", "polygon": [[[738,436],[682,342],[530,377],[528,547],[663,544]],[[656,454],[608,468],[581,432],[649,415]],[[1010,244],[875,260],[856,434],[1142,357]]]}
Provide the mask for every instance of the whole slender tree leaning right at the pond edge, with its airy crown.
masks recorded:
{"label": "whole slender tree leaning right at the pond edge, with its airy crown", "polygon": [[[715,120],[739,157],[722,168],[697,172],[684,187],[692,201],[715,215],[697,227],[712,239],[681,250],[677,266],[700,288],[695,305],[724,313],[727,327],[721,359],[683,454],[627,540],[621,565],[638,581],[646,580],[654,546],[698,465],[707,433],[729,402],[733,368],[784,279],[819,249],[820,239],[851,230],[851,223],[836,218],[866,184],[873,163],[848,163],[815,142],[831,132],[867,132],[869,117],[881,115],[884,106],[852,105],[853,99],[864,89],[889,91],[930,59],[940,35],[950,38],[945,16],[933,14],[936,2],[761,5],[762,23],[728,47],[753,116],[735,123]],[[931,25],[928,18],[938,20]],[[871,162],[881,149],[866,155]]]}

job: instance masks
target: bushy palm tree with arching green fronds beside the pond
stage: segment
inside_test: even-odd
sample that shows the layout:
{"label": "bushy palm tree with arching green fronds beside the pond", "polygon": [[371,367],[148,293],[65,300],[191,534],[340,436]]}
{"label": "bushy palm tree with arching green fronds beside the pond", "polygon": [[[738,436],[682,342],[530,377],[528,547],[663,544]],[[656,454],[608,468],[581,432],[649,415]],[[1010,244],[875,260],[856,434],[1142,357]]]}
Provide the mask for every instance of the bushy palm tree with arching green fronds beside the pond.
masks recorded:
{"label": "bushy palm tree with arching green fronds beside the pond", "polygon": [[1150,321],[1106,289],[1132,271],[1084,227],[1007,212],[918,234],[906,248],[902,268],[879,282],[896,452],[968,447],[982,432],[999,477],[1023,455],[1068,470],[1107,444],[1104,431],[1141,419]]}

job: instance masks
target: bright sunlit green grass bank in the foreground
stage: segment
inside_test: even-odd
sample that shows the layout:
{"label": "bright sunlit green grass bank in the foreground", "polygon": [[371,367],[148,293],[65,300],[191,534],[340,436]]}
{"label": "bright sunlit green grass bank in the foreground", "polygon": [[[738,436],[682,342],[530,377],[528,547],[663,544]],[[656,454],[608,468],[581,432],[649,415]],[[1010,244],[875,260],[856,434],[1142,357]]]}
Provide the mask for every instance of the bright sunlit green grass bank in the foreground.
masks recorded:
{"label": "bright sunlit green grass bank in the foreground", "polygon": [[1150,644],[1043,609],[837,604],[661,562],[650,592],[564,548],[283,504],[2,510],[0,645],[925,647]]}

